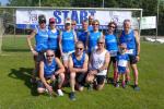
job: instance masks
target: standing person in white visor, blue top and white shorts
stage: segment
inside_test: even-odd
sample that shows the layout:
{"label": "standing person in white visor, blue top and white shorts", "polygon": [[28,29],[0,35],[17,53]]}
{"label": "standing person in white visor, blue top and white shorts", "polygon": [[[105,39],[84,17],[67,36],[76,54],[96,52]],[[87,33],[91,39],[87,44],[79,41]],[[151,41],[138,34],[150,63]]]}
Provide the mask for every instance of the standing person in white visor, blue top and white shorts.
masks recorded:
{"label": "standing person in white visor, blue top and white shorts", "polygon": [[74,52],[74,47],[77,43],[77,34],[71,29],[71,20],[67,19],[65,22],[65,29],[61,32],[59,36],[59,48],[61,58],[63,61],[63,65],[66,69],[66,80],[65,84],[68,84],[69,78],[69,70],[68,70],[68,59],[69,56]]}

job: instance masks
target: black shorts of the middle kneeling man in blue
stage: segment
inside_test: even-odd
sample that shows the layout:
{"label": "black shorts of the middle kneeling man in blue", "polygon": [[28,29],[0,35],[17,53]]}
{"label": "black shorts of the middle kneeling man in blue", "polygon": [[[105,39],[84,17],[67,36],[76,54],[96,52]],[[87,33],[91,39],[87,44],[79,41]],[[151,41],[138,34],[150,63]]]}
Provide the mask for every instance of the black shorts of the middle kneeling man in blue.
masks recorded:
{"label": "black shorts of the middle kneeling man in blue", "polygon": [[85,83],[85,74],[84,73],[77,73],[75,81],[78,82],[78,84],[83,86]]}

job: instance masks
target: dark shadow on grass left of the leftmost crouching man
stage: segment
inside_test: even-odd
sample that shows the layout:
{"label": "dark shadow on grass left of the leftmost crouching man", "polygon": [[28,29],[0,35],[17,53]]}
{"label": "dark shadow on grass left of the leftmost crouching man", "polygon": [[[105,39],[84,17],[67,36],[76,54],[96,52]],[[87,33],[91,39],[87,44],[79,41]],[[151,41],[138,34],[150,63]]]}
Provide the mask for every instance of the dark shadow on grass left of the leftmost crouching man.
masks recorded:
{"label": "dark shadow on grass left of the leftmost crouching man", "polygon": [[30,82],[32,77],[32,72],[33,69],[28,69],[28,68],[20,68],[19,70],[11,69],[11,73],[9,73],[9,77],[24,81],[24,84],[31,89],[31,94],[33,96],[38,96],[38,93],[36,90],[36,84],[34,85]]}

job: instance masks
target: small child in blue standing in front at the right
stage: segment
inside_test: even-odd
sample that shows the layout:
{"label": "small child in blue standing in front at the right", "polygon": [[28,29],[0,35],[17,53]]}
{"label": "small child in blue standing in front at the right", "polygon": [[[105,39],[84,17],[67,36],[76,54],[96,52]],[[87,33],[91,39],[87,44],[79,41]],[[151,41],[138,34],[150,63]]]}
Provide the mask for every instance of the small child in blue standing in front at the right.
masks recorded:
{"label": "small child in blue standing in front at the right", "polygon": [[118,76],[117,76],[117,82],[116,82],[115,86],[119,87],[119,77],[120,77],[120,75],[122,75],[121,86],[122,86],[122,88],[126,88],[126,82],[125,81],[126,81],[126,73],[128,70],[128,60],[129,60],[129,57],[126,53],[127,45],[121,44],[119,48],[120,48],[120,52],[117,56]]}

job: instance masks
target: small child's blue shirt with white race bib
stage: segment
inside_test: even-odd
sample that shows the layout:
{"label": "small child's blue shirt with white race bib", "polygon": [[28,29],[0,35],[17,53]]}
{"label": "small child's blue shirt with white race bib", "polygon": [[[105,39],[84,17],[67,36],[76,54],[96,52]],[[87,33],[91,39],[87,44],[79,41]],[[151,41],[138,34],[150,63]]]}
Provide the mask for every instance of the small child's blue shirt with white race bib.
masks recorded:
{"label": "small child's blue shirt with white race bib", "polygon": [[117,56],[118,73],[126,73],[129,57],[127,53]]}

